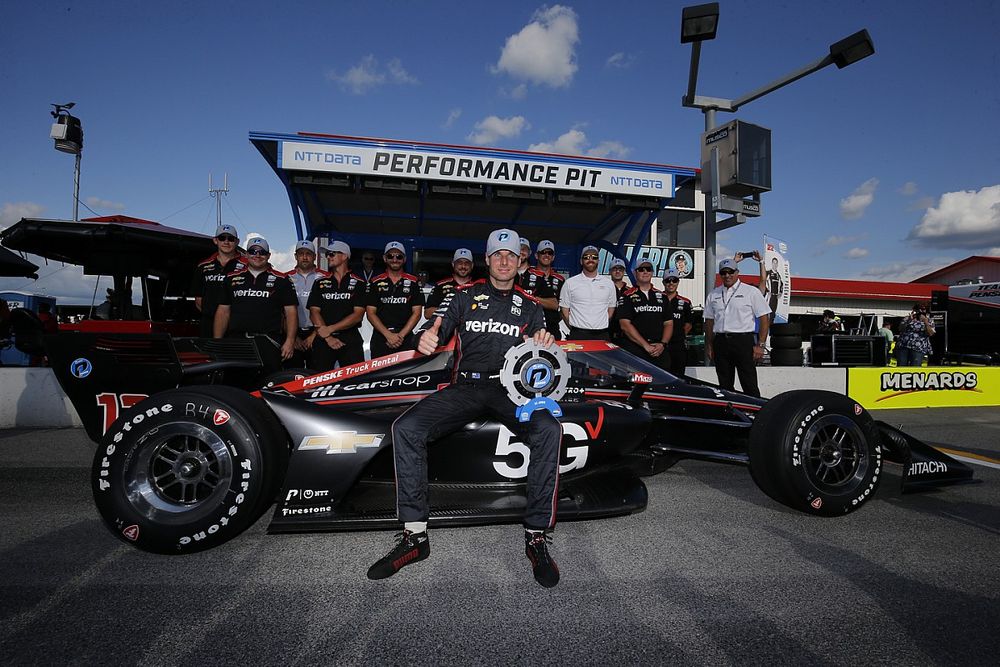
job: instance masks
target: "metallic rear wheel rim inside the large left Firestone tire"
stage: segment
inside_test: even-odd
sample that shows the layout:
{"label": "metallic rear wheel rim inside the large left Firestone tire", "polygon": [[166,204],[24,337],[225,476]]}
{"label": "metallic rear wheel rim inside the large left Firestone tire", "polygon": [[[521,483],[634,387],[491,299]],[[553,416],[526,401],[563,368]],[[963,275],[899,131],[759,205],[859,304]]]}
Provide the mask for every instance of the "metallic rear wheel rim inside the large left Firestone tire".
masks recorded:
{"label": "metallic rear wheel rim inside the large left Firestone tire", "polygon": [[139,514],[159,523],[188,523],[222,502],[233,462],[215,432],[175,422],[147,434],[123,474],[128,500]]}

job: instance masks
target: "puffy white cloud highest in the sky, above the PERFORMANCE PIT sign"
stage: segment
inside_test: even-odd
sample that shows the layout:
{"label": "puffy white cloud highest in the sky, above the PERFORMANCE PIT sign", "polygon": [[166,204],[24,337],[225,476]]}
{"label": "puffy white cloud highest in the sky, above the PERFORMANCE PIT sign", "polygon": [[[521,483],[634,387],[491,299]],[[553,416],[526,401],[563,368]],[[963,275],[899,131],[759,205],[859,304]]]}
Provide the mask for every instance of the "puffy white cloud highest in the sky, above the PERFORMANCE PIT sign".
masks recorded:
{"label": "puffy white cloud highest in the sky, above the PERFORMANCE PIT sign", "polygon": [[568,86],[577,70],[579,41],[576,12],[562,5],[543,6],[531,23],[507,38],[492,70],[534,84]]}

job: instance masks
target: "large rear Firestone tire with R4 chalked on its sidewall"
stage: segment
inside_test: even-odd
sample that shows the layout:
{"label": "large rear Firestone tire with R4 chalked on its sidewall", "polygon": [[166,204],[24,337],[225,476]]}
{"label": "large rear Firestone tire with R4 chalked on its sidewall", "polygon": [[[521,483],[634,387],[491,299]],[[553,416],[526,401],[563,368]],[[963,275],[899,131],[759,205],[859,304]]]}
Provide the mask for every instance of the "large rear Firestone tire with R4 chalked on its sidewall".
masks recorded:
{"label": "large rear Firestone tire with R4 chalked on its sidewall", "polygon": [[154,394],[111,425],[91,482],[118,539],[184,554],[252,525],[287,463],[287,436],[262,401],[232,387],[185,387]]}

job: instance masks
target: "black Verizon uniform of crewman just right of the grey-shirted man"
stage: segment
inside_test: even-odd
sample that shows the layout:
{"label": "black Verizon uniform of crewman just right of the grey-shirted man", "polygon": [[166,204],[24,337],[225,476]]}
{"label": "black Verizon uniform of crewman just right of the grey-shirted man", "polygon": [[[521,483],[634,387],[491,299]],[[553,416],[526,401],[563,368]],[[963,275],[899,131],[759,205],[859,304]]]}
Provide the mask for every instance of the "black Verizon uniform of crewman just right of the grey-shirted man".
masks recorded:
{"label": "black Verizon uniform of crewman just right of the grey-shirted man", "polygon": [[[319,314],[327,325],[336,324],[353,314],[355,308],[365,307],[367,287],[364,279],[353,273],[348,273],[340,281],[336,276],[327,275],[313,284],[306,305],[309,308],[319,308]],[[334,350],[326,339],[316,336],[312,353],[313,365],[317,370],[328,370],[337,363],[350,366],[365,360],[361,322],[330,335],[340,339],[344,346]]]}

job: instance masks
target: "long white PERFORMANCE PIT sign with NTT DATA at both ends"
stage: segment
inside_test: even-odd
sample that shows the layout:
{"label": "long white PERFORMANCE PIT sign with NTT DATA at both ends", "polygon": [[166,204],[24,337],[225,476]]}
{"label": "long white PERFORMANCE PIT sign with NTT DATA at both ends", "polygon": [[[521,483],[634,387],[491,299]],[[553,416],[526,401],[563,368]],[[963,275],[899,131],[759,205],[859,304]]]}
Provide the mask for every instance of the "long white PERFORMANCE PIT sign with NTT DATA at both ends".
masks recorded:
{"label": "long white PERFORMANCE PIT sign with NTT DATA at both ends", "polygon": [[417,151],[282,141],[278,166],[390,178],[418,178],[672,198],[674,175],[655,167],[623,169],[597,161],[538,156],[505,157],[479,152]]}

